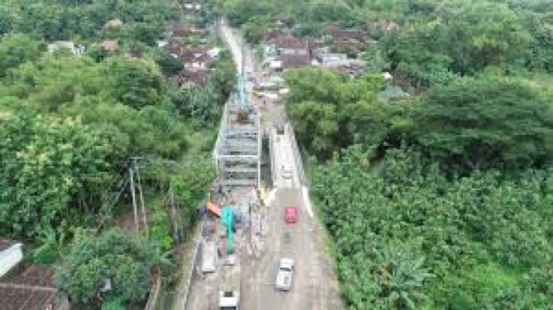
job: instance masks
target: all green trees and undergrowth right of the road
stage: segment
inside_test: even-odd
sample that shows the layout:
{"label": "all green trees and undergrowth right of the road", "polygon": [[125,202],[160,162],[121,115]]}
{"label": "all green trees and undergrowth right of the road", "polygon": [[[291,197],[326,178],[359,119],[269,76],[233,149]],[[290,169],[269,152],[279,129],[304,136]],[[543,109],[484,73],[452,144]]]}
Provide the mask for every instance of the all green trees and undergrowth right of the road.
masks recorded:
{"label": "all green trees and undergrowth right of the road", "polygon": [[[348,309],[550,309],[550,1],[219,8],[254,44],[329,24],[373,39],[355,78],[284,73]],[[387,98],[390,86],[409,96]]]}

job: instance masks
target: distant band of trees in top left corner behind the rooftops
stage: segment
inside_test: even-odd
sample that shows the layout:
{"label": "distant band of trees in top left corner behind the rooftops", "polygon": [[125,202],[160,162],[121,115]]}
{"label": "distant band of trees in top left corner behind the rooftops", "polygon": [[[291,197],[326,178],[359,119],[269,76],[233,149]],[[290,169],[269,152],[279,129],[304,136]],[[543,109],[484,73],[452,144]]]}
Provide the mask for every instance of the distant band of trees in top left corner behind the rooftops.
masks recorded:
{"label": "distant band of trees in top left corner behind the rooftops", "polygon": [[0,34],[13,31],[37,35],[46,41],[101,39],[104,25],[120,19],[126,40],[149,45],[163,33],[163,23],[174,19],[175,1],[6,0],[0,7]]}

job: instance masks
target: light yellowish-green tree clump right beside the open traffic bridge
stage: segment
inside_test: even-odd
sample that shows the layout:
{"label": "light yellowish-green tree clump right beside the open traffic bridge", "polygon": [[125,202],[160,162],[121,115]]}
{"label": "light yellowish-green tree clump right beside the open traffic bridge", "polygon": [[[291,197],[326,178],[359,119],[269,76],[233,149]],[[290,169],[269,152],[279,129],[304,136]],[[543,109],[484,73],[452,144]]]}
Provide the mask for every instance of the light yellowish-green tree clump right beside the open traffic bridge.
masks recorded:
{"label": "light yellowish-green tree clump right beside the open traffic bridge", "polygon": [[321,158],[352,143],[378,147],[396,127],[406,126],[400,119],[404,108],[380,98],[379,75],[349,80],[324,69],[296,69],[285,78],[290,85],[288,113],[297,138]]}

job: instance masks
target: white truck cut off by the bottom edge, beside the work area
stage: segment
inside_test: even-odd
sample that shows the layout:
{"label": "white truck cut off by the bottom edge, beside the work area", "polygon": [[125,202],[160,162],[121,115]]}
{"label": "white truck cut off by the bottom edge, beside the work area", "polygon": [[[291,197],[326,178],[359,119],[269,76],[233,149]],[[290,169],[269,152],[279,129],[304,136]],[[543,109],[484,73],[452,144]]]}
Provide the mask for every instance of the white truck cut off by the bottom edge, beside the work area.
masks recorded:
{"label": "white truck cut off by the bottom edge, beside the work area", "polygon": [[240,264],[234,255],[229,255],[221,270],[221,288],[219,289],[219,309],[240,309]]}

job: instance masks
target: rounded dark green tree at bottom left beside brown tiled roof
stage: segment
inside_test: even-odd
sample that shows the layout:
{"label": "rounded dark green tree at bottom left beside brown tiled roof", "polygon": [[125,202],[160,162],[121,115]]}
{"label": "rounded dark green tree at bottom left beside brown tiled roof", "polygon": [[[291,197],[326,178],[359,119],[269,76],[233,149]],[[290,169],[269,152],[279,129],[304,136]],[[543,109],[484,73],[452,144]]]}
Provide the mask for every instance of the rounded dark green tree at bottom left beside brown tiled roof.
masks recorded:
{"label": "rounded dark green tree at bottom left beside brown tiled roof", "polygon": [[[55,282],[79,307],[97,307],[104,298],[139,302],[148,294],[153,266],[156,255],[147,240],[118,229],[100,235],[83,230],[55,269]],[[102,292],[106,282],[111,290]]]}

